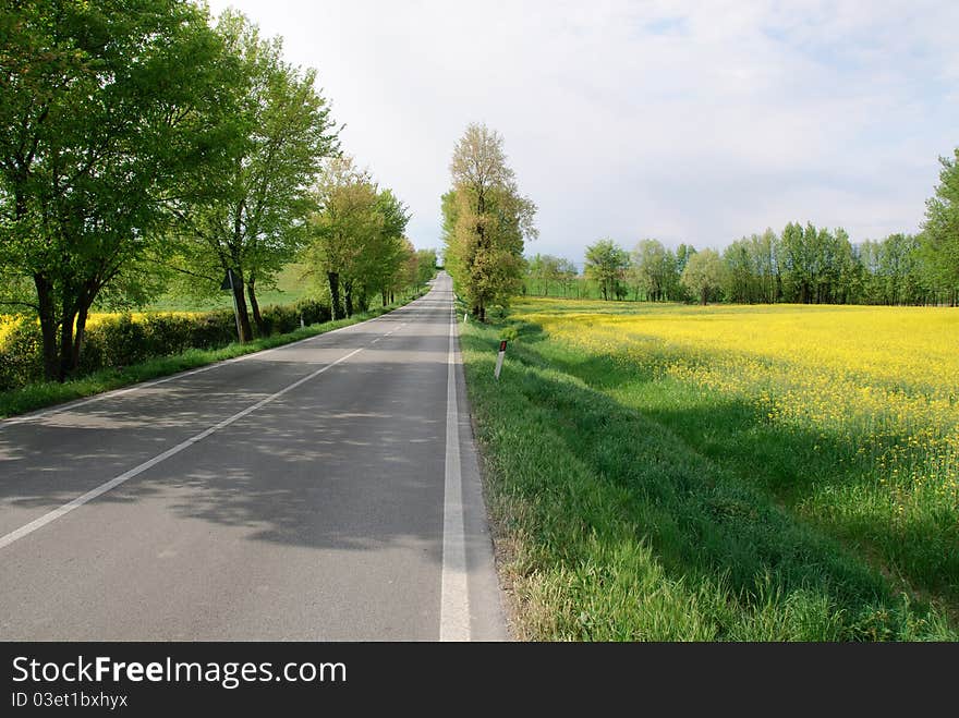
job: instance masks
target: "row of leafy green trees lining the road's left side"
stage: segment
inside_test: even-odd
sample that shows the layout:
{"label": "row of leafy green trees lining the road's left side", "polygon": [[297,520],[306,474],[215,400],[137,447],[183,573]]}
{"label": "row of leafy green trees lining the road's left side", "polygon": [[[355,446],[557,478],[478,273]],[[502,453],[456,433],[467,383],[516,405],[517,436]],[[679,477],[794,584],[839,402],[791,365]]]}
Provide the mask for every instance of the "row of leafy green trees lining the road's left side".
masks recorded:
{"label": "row of leafy green trees lining the road's left side", "polygon": [[335,316],[435,264],[404,238],[404,205],[342,156],[315,81],[243,15],[214,23],[187,0],[3,4],[0,303],[38,317],[47,378],[78,365],[92,307],[177,277],[201,295],[232,278],[246,341],[265,331],[257,290],[290,261]]}

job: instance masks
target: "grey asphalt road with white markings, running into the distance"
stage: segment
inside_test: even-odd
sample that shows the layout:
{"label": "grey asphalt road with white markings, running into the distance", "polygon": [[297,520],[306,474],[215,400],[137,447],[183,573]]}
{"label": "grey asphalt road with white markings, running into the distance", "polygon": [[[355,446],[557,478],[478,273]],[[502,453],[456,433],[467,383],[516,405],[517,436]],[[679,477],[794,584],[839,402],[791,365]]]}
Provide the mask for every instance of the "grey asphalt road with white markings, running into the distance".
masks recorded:
{"label": "grey asphalt road with white markings, running into the distance", "polygon": [[0,422],[0,640],[506,640],[454,327],[441,273],[361,325]]}

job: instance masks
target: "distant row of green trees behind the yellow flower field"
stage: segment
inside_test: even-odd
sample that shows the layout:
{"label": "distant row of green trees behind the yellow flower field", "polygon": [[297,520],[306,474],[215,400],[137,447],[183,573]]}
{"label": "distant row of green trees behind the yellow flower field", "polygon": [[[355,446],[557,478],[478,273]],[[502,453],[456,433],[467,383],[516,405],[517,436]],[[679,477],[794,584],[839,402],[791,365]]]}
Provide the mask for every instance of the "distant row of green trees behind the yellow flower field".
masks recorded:
{"label": "distant row of green trees behind the yellow flower field", "polygon": [[[802,304],[959,303],[959,149],[943,158],[936,193],[920,235],[890,234],[853,244],[842,228],[790,222],[718,253],[687,244],[675,251],[643,240],[632,252],[609,239],[586,247],[583,276],[605,300],[790,302]],[[537,254],[526,263],[529,285],[570,294],[575,265]]]}

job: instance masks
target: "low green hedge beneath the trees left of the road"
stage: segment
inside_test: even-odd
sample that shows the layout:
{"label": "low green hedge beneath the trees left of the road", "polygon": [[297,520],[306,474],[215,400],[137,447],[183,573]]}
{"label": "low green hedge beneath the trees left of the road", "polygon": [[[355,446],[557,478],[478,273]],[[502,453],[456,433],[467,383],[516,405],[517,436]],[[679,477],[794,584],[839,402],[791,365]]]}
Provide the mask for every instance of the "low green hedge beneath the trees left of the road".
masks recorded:
{"label": "low green hedge beneath the trees left of the road", "polygon": [[[266,334],[284,334],[303,324],[329,321],[329,307],[313,300],[271,305],[260,312]],[[76,376],[99,369],[130,366],[189,349],[218,349],[236,339],[236,320],[230,309],[184,316],[148,314],[134,320],[130,314],[110,317],[86,331]],[[0,346],[0,391],[43,381],[43,340],[35,321],[22,321]]]}

